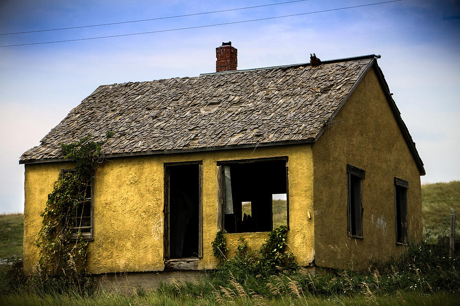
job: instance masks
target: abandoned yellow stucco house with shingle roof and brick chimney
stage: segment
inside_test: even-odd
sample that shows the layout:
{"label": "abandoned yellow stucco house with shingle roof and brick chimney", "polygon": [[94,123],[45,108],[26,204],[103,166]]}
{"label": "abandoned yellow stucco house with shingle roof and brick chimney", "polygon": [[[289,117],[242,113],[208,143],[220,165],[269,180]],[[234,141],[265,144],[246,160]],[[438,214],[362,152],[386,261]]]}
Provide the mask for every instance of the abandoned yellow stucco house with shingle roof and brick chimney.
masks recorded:
{"label": "abandoned yellow stucco house with shingle roof and brick chimney", "polygon": [[420,239],[425,170],[380,56],[237,70],[231,43],[216,54],[199,77],[98,87],[20,157],[26,272],[47,196],[73,167],[61,144],[109,131],[78,217],[91,273],[213,269],[219,230],[233,254],[284,224],[298,264],[336,268]]}

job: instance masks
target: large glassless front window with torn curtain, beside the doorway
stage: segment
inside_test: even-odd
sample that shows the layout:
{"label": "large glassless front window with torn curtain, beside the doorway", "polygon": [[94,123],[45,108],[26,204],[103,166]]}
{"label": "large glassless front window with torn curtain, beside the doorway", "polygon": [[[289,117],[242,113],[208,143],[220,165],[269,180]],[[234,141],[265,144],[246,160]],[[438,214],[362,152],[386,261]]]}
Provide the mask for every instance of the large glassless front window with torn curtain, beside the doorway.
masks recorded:
{"label": "large glassless front window with torn curtain, beside the doorway", "polygon": [[227,233],[288,225],[287,158],[219,163],[218,181],[219,227]]}

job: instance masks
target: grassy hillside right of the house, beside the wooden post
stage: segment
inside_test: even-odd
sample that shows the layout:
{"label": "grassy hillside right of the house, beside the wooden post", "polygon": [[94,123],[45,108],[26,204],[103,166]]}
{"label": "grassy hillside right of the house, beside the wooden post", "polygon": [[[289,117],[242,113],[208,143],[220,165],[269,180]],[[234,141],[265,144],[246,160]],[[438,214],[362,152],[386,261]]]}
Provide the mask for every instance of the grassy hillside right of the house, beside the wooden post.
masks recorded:
{"label": "grassy hillside right of the house, beside the wooden post", "polygon": [[457,218],[455,236],[460,236],[460,181],[422,185],[423,227],[428,239],[449,235],[451,213]]}

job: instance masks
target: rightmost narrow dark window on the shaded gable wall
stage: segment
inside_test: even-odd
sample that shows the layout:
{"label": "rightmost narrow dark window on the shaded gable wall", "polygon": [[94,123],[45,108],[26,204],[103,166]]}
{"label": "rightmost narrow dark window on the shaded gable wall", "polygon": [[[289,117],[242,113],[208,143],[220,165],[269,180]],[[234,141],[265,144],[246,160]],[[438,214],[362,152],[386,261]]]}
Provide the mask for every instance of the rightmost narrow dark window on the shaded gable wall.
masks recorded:
{"label": "rightmost narrow dark window on the shaded gable wall", "polygon": [[407,243],[407,181],[395,177],[396,243]]}

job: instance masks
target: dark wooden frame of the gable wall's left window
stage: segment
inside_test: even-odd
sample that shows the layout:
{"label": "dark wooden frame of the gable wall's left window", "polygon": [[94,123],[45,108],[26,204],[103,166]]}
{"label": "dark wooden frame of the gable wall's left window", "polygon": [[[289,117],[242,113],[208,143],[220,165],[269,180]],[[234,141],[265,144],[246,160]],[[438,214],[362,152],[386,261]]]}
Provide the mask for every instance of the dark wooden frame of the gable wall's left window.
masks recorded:
{"label": "dark wooden frame of the gable wall's left window", "polygon": [[[359,207],[358,210],[355,208],[355,214],[352,215],[352,176],[357,177],[359,179]],[[361,168],[352,166],[350,164],[347,164],[347,219],[348,219],[348,236],[351,238],[358,238],[358,239],[364,239],[364,234],[363,234],[363,226],[362,226],[362,215],[363,215],[363,207],[362,207],[362,181],[365,179],[365,171]],[[356,215],[358,212],[358,216]],[[359,227],[360,227],[360,233],[352,233],[352,223],[356,223],[356,218],[359,218]],[[355,222],[352,222],[355,221]],[[355,225],[356,227],[356,225]]]}

